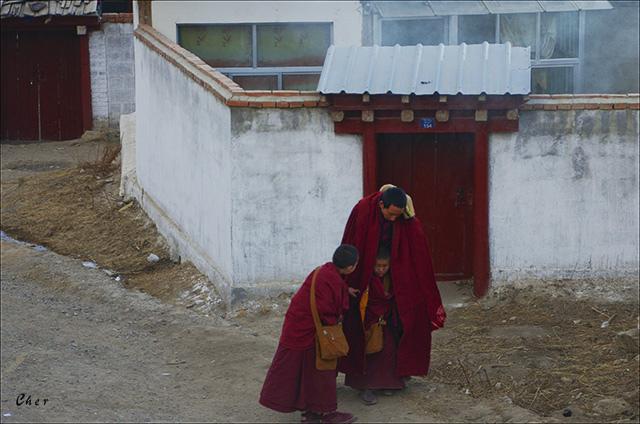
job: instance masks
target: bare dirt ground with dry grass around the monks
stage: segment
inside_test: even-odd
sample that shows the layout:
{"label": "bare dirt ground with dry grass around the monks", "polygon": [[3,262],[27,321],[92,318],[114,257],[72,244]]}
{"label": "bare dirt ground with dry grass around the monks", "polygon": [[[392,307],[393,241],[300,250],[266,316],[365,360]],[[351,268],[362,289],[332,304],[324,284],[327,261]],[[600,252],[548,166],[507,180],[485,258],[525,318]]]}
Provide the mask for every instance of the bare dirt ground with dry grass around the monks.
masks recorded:
{"label": "bare dirt ground with dry grass around the monks", "polygon": [[[1,146],[2,230],[32,243],[2,242],[2,421],[295,421],[257,404],[289,295],[225,310],[118,197],[117,167],[87,163],[115,144]],[[339,384],[341,408],[363,422],[638,422],[637,281],[441,289],[430,375],[373,407]],[[26,391],[52,400],[17,407]]]}

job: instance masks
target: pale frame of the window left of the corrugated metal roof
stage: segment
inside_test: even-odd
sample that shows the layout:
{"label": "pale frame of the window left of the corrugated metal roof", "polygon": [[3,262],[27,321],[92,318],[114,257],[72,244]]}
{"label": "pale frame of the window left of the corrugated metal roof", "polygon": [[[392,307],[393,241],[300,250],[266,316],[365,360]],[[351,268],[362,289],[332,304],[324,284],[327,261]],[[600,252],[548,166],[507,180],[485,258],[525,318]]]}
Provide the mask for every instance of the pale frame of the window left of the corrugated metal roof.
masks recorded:
{"label": "pale frame of the window left of the corrugated metal roof", "polygon": [[333,44],[333,22],[332,21],[307,21],[307,22],[224,22],[224,23],[176,23],[176,41],[180,45],[180,27],[181,26],[225,26],[225,25],[247,25],[251,26],[251,57],[252,66],[241,67],[220,67],[215,68],[228,77],[247,77],[247,76],[276,76],[278,80],[278,90],[282,90],[282,76],[287,74],[321,74],[323,66],[277,66],[266,67],[258,66],[258,26],[259,25],[305,25],[305,24],[326,24],[329,25],[329,46]]}

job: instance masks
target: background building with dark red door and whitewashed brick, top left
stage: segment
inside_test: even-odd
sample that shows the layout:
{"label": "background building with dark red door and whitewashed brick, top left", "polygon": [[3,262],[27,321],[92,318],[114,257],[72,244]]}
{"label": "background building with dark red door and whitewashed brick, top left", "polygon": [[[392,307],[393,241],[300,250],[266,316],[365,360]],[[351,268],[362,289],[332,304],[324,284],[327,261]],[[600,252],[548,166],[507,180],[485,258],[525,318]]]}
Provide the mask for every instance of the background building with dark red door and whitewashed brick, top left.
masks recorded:
{"label": "background building with dark red door and whitewashed brick, top left", "polygon": [[134,110],[131,2],[2,1],[0,16],[3,140],[78,138]]}

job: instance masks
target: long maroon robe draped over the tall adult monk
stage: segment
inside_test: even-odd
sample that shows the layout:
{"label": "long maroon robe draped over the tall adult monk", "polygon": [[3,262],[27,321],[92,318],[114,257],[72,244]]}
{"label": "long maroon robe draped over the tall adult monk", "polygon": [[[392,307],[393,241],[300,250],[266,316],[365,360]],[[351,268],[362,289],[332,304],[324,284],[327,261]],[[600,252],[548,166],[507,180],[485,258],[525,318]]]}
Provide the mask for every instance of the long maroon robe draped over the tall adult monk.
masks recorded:
{"label": "long maroon robe draped over the tall adult monk", "polygon": [[[380,197],[369,195],[353,208],[342,243],[360,252],[356,270],[347,278],[349,286],[364,291],[371,278],[380,242]],[[400,338],[396,375],[426,375],[431,354],[431,331],[444,325],[446,314],[436,286],[427,238],[418,218],[399,217],[393,223],[391,281],[403,334]],[[366,370],[364,332],[358,300],[352,301],[344,320],[349,355],[339,361],[339,371],[363,374]]]}

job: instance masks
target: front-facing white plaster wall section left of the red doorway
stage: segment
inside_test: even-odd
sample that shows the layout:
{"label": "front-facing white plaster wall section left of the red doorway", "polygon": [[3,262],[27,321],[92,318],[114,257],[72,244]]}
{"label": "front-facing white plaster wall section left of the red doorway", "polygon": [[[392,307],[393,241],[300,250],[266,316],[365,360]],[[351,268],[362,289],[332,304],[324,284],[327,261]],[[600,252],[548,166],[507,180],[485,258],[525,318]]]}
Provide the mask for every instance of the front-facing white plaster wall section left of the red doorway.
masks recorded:
{"label": "front-facing white plaster wall section left of the red doorway", "polygon": [[238,108],[231,122],[234,282],[300,281],[362,197],[361,139],[336,135],[324,109]]}

